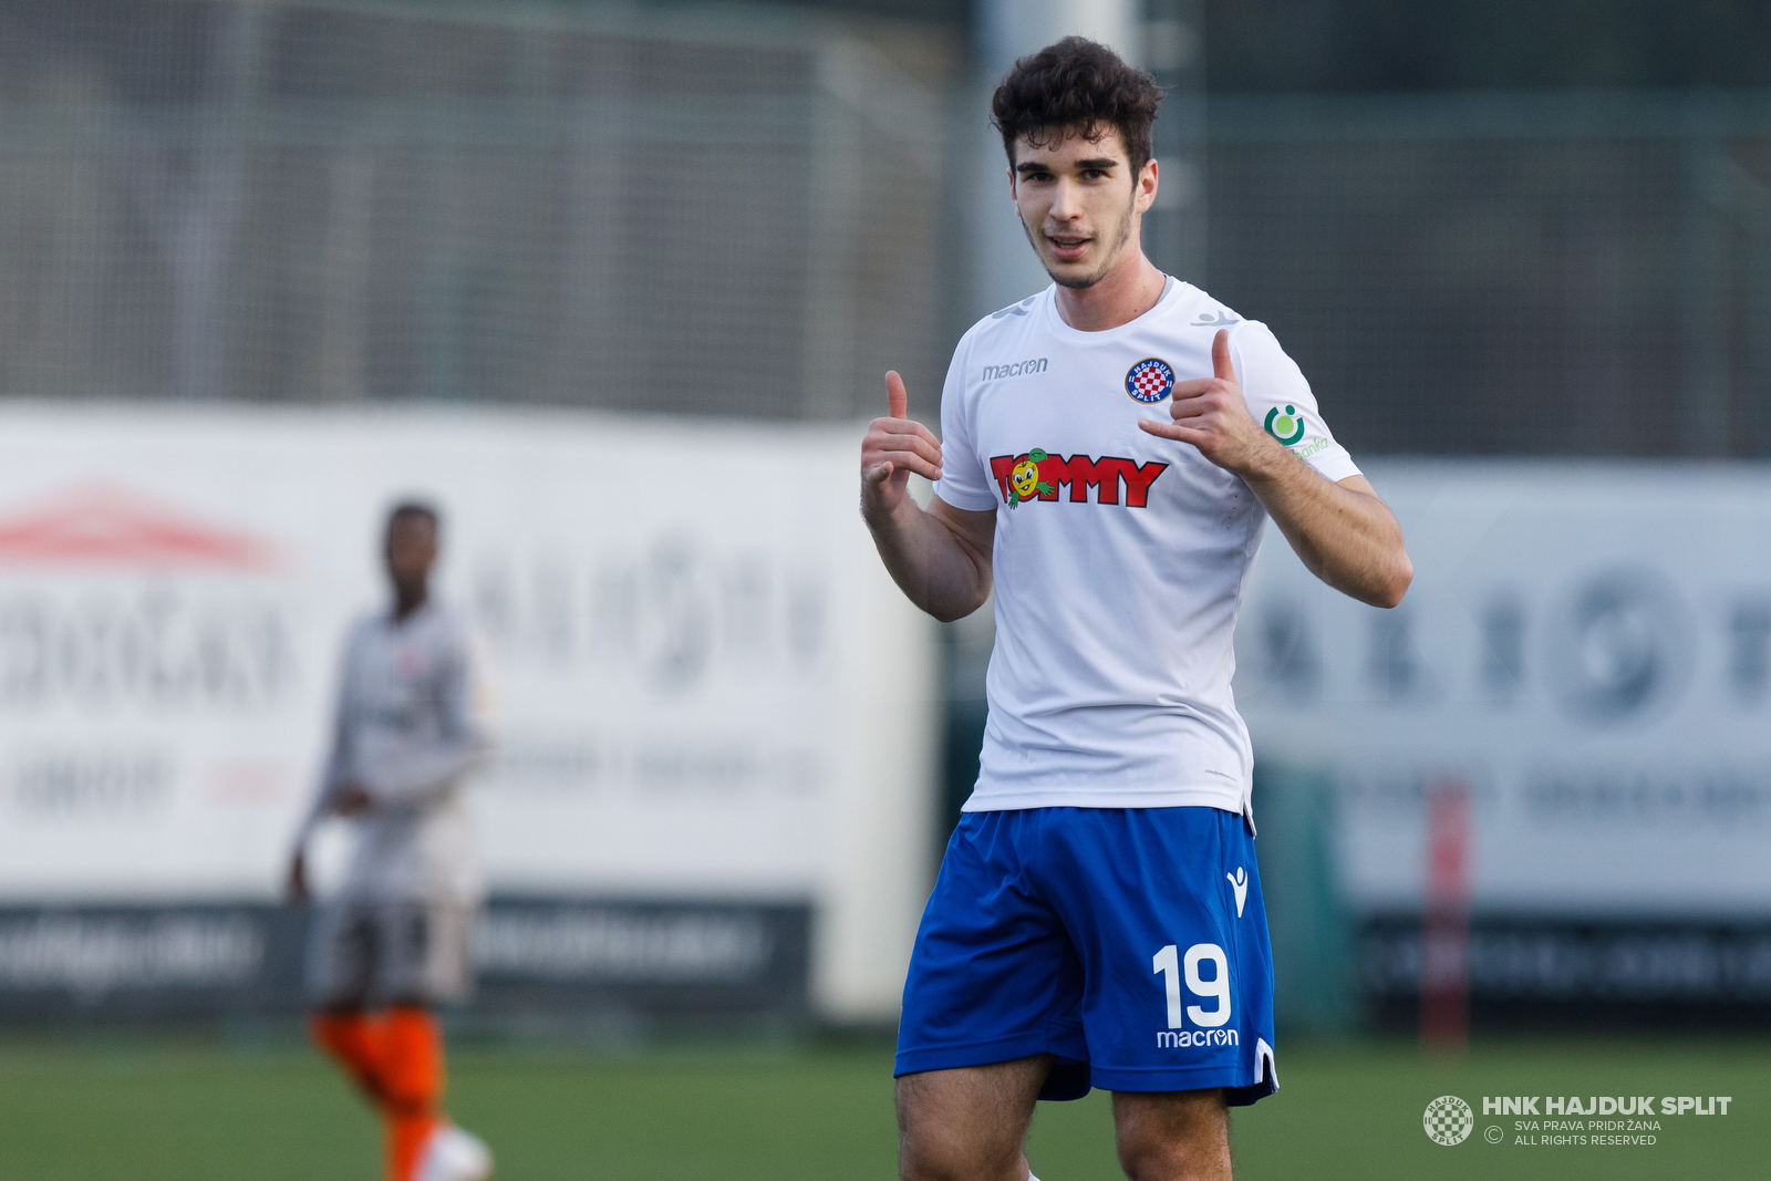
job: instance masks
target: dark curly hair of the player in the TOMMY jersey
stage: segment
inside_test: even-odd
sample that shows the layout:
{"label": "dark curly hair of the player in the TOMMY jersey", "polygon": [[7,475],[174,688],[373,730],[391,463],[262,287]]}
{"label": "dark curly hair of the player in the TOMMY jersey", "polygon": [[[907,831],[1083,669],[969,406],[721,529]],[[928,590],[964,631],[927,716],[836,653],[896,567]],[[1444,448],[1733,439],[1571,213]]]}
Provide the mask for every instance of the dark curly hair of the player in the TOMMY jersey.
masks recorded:
{"label": "dark curly hair of the player in the TOMMY jersey", "polygon": [[1098,41],[1064,37],[1015,62],[990,99],[990,126],[1002,133],[1009,166],[1020,136],[1045,147],[1071,131],[1091,143],[1118,131],[1137,175],[1149,159],[1158,103],[1162,87],[1146,71]]}

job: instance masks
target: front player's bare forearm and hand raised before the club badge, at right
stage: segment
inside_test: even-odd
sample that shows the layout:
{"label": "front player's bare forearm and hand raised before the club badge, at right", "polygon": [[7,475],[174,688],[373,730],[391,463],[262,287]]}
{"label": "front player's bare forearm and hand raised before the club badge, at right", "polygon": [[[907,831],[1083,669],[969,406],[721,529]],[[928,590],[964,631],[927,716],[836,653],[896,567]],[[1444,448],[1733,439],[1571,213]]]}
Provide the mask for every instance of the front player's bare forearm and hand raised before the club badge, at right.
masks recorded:
{"label": "front player's bare forearm and hand raised before the club badge, at right", "polygon": [[1146,432],[1190,443],[1234,471],[1261,498],[1291,549],[1337,591],[1394,607],[1415,577],[1403,528],[1365,476],[1339,483],[1319,475],[1249,414],[1229,356],[1229,331],[1211,340],[1213,377],[1176,382],[1174,421],[1144,420]]}

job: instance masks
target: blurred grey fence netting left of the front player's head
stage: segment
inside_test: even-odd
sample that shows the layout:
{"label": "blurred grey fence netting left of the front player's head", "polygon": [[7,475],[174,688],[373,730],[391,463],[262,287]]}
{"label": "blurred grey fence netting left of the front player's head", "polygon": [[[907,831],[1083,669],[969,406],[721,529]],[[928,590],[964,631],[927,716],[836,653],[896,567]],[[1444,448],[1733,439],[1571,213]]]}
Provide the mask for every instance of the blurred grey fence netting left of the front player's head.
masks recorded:
{"label": "blurred grey fence netting left of the front player's head", "polygon": [[937,96],[829,30],[542,16],[5,5],[0,393],[829,418],[939,381]]}

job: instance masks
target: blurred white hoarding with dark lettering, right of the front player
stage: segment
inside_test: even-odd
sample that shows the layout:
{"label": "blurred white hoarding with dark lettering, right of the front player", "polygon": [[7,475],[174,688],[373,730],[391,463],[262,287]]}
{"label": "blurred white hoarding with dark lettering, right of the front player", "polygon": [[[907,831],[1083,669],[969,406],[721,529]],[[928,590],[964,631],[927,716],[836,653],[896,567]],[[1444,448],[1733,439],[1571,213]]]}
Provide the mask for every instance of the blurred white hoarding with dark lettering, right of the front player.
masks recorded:
{"label": "blurred white hoarding with dark lettering, right of the front player", "polygon": [[1472,793],[1479,912],[1762,917],[1771,471],[1369,475],[1415,563],[1403,606],[1337,595],[1268,529],[1236,673],[1257,760],[1332,774],[1353,905],[1419,908],[1422,793],[1454,777]]}

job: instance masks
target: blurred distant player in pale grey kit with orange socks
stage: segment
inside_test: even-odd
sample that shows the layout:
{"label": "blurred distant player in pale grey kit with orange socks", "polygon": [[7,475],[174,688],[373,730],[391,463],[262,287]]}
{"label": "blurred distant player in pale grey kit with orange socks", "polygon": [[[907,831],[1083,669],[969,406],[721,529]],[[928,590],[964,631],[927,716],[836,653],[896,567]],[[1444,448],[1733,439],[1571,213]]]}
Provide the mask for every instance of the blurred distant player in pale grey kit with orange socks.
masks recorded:
{"label": "blurred distant player in pale grey kit with orange socks", "polygon": [[482,1181],[491,1153],[441,1110],[432,1007],[469,988],[478,882],[462,784],[491,753],[487,691],[466,623],[430,598],[436,510],[395,506],[384,556],[393,604],[349,632],[331,758],[289,898],[308,896],[313,825],[342,816],[356,852],[313,928],[310,1032],[381,1112],[388,1181]]}

